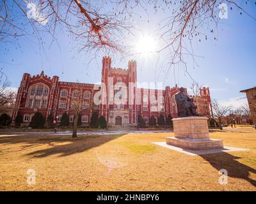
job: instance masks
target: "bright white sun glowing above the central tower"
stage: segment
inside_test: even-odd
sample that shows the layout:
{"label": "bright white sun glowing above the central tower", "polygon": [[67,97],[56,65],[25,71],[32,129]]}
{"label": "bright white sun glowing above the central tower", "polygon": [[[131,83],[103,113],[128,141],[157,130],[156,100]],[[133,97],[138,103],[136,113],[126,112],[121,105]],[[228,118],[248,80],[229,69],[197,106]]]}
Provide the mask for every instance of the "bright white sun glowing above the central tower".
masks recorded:
{"label": "bright white sun glowing above the central tower", "polygon": [[156,41],[152,36],[141,36],[136,44],[136,52],[139,54],[156,52]]}

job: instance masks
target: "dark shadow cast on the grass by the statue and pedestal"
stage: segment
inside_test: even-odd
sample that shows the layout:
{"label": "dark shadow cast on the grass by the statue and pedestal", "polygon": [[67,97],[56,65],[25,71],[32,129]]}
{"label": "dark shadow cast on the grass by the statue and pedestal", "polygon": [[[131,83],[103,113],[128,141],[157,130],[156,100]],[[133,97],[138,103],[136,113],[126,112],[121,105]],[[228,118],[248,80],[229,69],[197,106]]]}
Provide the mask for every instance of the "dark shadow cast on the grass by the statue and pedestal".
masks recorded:
{"label": "dark shadow cast on the grass by the statue and pedestal", "polygon": [[256,180],[249,178],[249,172],[256,174],[256,170],[250,166],[239,163],[239,161],[236,161],[236,159],[240,159],[241,157],[232,156],[227,152],[221,152],[218,154],[205,154],[200,156],[204,158],[205,161],[208,161],[212,167],[216,168],[216,170],[227,170],[228,177],[244,179],[250,182],[253,186],[256,186]]}

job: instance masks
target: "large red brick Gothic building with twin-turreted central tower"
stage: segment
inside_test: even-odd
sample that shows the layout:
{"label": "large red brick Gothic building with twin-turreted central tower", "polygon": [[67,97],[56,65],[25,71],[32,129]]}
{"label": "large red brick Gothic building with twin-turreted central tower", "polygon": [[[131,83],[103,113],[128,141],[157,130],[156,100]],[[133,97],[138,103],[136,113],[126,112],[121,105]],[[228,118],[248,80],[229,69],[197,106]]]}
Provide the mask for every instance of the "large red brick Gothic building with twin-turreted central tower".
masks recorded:
{"label": "large red brick Gothic building with twin-turreted central tower", "polygon": [[[167,117],[169,113],[177,117],[175,94],[177,85],[164,89],[140,88],[137,82],[136,61],[129,61],[128,69],[112,68],[111,58],[102,59],[102,84],[61,82],[58,76],[48,77],[44,71],[31,76],[24,73],[17,93],[12,122],[17,114],[22,115],[23,124],[29,124],[33,114],[41,112],[45,118],[51,114],[59,123],[61,115],[68,113],[70,122],[74,120],[74,98],[81,106],[83,126],[88,126],[93,112],[103,115],[109,126],[136,126],[140,114],[146,124],[154,115]],[[151,84],[152,85],[152,84]],[[158,87],[157,87],[158,88]],[[200,103],[205,107],[204,115],[211,116],[211,97],[208,88],[201,90]]]}

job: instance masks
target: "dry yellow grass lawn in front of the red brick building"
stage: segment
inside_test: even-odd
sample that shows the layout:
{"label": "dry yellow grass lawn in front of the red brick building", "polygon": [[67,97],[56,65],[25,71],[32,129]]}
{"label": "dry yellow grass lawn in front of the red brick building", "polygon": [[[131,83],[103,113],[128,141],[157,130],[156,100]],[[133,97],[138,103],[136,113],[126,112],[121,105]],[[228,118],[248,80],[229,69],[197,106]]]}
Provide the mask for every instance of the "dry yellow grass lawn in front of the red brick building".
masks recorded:
{"label": "dry yellow grass lawn in front of the red brick building", "polygon": [[[256,133],[214,132],[241,152],[189,156],[152,142],[173,133],[0,136],[1,191],[255,191]],[[220,169],[228,184],[218,184]],[[36,171],[28,185],[27,170]]]}

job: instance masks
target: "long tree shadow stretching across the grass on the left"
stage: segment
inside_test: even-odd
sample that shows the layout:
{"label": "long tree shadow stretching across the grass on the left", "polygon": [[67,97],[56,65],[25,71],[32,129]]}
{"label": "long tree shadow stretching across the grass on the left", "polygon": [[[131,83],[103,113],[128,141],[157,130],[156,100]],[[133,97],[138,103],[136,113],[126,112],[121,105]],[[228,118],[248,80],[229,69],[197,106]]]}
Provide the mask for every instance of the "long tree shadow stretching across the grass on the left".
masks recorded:
{"label": "long tree shadow stretching across the grass on the left", "polygon": [[[47,157],[54,154],[60,154],[59,156],[69,156],[84,152],[93,147],[98,147],[99,145],[115,140],[120,136],[123,135],[79,136],[76,139],[72,139],[71,136],[4,136],[3,138],[0,138],[0,144],[6,143],[19,145],[19,143],[22,143],[22,145],[20,145],[20,147],[1,149],[0,153],[8,154],[8,152],[19,152],[22,150],[33,149],[34,147],[40,148],[40,146],[48,144],[51,147],[42,147],[42,149],[30,152],[26,154],[26,156]],[[58,142],[58,144],[56,144],[56,142]]]}

